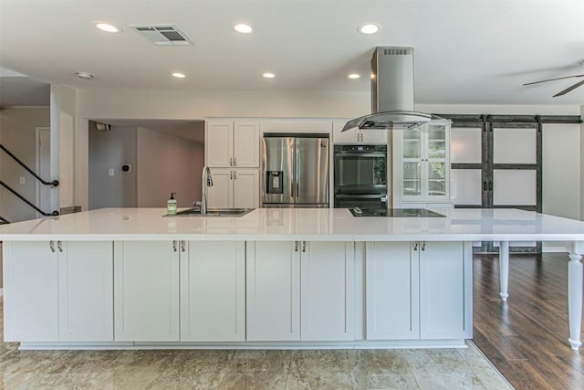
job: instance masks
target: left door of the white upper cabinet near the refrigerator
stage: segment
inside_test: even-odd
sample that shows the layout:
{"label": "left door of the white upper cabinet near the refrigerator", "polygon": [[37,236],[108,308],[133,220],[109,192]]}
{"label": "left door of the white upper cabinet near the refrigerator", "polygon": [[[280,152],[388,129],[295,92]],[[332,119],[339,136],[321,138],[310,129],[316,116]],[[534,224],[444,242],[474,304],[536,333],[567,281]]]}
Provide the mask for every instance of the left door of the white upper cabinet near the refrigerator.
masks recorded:
{"label": "left door of the white upper cabinet near the refrigerator", "polygon": [[205,163],[207,166],[232,166],[234,122],[207,121],[205,126]]}

